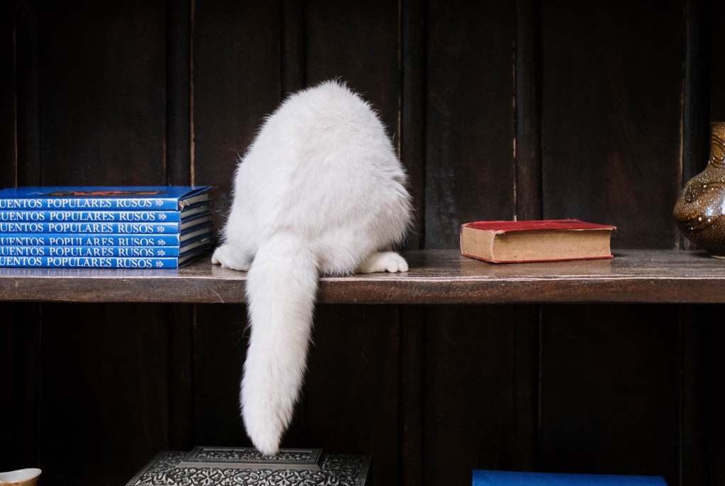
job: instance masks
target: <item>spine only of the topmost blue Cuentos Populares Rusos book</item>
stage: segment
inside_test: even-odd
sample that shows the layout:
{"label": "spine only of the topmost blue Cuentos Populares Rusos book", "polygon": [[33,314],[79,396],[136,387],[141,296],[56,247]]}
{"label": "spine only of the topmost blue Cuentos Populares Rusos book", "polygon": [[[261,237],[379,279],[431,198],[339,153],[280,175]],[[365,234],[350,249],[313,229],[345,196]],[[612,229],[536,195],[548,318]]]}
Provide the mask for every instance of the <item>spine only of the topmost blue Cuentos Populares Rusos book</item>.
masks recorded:
{"label": "spine only of the topmost blue Cuentos Populares Rusos book", "polygon": [[0,199],[0,210],[154,210],[176,211],[178,200],[156,197],[48,197]]}

